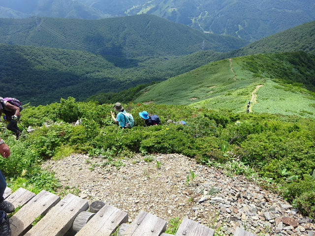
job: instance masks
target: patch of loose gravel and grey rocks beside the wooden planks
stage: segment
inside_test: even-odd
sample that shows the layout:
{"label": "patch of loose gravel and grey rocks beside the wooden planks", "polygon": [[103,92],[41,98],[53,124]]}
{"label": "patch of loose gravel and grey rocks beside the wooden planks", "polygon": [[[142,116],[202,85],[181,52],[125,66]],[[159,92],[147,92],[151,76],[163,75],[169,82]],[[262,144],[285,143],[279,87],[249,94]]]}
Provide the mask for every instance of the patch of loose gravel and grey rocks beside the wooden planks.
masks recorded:
{"label": "patch of loose gravel and grey rocks beside the wooden planks", "polygon": [[[142,209],[167,222],[188,216],[224,235],[241,227],[264,236],[315,236],[311,218],[245,177],[227,177],[180,154],[154,158],[146,162],[135,155],[117,169],[107,160],[75,154],[42,167],[54,171],[63,186],[78,188],[90,204],[103,201],[126,211],[129,222]],[[190,171],[197,176],[188,181]]]}

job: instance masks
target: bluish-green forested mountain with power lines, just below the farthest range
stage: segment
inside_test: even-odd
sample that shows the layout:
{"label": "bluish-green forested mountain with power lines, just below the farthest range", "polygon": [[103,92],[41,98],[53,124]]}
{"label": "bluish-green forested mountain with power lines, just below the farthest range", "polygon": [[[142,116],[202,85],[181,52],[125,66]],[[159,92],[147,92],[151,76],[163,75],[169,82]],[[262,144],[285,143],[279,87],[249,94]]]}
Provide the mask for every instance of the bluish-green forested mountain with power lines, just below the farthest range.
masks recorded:
{"label": "bluish-green forested mountain with power lines, just below the farthest range", "polygon": [[0,43],[84,50],[126,59],[187,55],[200,50],[227,52],[248,44],[149,14],[101,20],[0,19]]}

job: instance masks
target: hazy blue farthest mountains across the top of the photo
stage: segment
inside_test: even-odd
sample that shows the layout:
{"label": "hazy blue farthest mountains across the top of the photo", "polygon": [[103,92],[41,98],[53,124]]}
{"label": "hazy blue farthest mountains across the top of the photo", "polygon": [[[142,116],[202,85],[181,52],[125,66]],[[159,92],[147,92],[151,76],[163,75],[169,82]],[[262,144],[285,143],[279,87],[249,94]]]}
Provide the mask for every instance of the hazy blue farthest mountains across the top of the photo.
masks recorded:
{"label": "hazy blue farthest mountains across the top of the photo", "polygon": [[1,0],[0,7],[1,18],[101,19],[147,13],[250,41],[315,20],[313,0]]}

